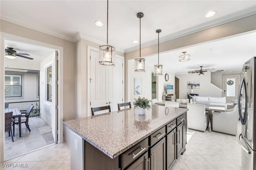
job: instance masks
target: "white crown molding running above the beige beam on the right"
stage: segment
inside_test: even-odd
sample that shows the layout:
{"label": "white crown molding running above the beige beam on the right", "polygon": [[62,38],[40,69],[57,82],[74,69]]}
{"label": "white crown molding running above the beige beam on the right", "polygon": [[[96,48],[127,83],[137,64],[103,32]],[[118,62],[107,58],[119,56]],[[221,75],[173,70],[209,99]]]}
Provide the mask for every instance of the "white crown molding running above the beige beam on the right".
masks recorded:
{"label": "white crown molding running above the beige beam on the right", "polygon": [[[159,43],[163,43],[163,42],[166,42],[166,41],[170,41],[172,39],[176,39],[178,37],[183,37],[185,35],[196,33],[198,31],[202,31],[202,30],[205,30],[205,29],[208,29],[208,28],[211,28],[211,27],[216,27],[216,26],[222,25],[224,23],[239,20],[241,18],[252,16],[254,14],[256,14],[255,8],[248,8],[246,10],[242,10],[242,11],[239,11],[239,12],[236,12],[236,13],[233,13],[233,14],[230,14],[230,15],[227,15],[227,16],[224,16],[224,17],[206,22],[206,23],[202,23],[200,25],[196,25],[196,26],[188,28],[188,29],[184,29],[182,31],[179,31],[179,32],[176,32],[176,33],[173,33],[173,34],[170,34],[170,35],[167,35],[165,37],[160,38]],[[158,39],[154,39],[152,41],[148,41],[146,43],[141,44],[141,48],[150,47],[150,46],[156,45],[156,44],[158,44]],[[136,51],[136,50],[139,50],[139,49],[140,49],[140,46],[137,45],[137,46],[125,49],[124,53],[129,53],[129,52]]]}

